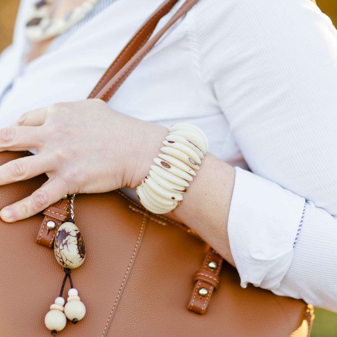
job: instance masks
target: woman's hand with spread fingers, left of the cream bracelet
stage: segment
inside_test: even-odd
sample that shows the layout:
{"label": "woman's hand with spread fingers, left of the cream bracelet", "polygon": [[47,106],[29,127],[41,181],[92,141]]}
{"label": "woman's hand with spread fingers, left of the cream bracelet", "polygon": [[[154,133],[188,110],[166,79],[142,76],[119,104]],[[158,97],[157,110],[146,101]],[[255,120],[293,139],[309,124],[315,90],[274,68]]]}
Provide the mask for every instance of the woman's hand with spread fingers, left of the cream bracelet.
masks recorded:
{"label": "woman's hand with spread fingers, left of the cream bracelet", "polygon": [[37,155],[0,167],[0,185],[47,173],[31,196],[3,208],[2,220],[37,214],[71,193],[135,187],[147,174],[167,129],[113,111],[101,100],[59,103],[25,113],[0,129],[0,151],[36,149]]}

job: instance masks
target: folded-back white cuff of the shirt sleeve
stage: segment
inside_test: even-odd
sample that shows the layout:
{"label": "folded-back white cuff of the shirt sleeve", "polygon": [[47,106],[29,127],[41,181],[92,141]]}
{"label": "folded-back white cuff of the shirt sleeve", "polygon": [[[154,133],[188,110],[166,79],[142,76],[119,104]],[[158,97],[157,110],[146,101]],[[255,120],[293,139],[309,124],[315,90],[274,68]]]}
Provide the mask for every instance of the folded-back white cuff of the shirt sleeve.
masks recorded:
{"label": "folded-back white cuff of the shirt sleeve", "polygon": [[241,286],[277,288],[292,261],[305,199],[247,170],[235,172],[228,237]]}

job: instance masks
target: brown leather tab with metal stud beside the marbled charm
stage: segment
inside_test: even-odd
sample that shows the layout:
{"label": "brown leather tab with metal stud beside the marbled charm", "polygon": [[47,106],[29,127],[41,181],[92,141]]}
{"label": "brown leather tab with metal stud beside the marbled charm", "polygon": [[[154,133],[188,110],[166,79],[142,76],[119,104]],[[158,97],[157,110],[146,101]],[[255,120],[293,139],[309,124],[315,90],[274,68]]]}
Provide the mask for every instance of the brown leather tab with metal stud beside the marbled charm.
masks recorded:
{"label": "brown leather tab with metal stud beside the marbled charm", "polygon": [[61,199],[43,211],[45,218],[36,239],[38,244],[53,248],[57,228],[69,218],[69,204],[69,198]]}

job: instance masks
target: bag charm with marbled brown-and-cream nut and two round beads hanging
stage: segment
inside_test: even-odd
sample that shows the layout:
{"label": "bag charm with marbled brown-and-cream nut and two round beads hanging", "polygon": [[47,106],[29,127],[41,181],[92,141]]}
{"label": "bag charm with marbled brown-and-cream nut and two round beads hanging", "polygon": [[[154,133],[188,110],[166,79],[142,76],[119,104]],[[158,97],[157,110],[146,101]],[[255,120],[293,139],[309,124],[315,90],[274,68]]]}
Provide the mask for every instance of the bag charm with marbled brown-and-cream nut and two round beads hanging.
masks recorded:
{"label": "bag charm with marbled brown-and-cream nut and two round beads hanging", "polygon": [[[53,336],[64,329],[67,319],[76,324],[84,317],[86,311],[70,276],[71,269],[80,267],[85,260],[84,241],[81,232],[74,224],[74,198],[75,194],[72,194],[70,197],[71,218],[58,227],[55,235],[54,255],[57,263],[64,268],[65,275],[59,296],[56,297],[55,303],[50,306],[50,311],[45,317],[45,325]],[[67,279],[70,282],[70,289],[67,303],[64,305],[65,300],[62,294]]]}

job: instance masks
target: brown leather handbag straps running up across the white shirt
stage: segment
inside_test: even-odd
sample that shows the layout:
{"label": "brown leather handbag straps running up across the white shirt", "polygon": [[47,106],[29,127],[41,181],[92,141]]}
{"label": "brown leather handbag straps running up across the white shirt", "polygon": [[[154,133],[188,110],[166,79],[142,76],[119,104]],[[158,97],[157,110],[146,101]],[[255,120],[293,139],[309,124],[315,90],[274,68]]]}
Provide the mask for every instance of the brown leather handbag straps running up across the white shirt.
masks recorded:
{"label": "brown leather handbag straps running up across the white shirt", "polygon": [[165,32],[167,32],[179,18],[186,14],[198,0],[186,0],[169,19],[166,25],[149,40],[159,20],[169,12],[176,2],[177,0],[166,0],[150,16],[122,52],[116,57],[88,98],[100,98],[108,102],[133,69],[140,63],[144,56],[149,53]]}

